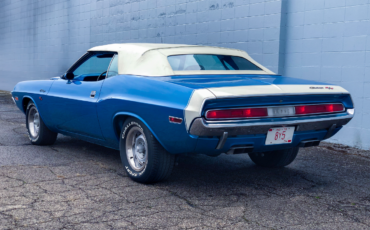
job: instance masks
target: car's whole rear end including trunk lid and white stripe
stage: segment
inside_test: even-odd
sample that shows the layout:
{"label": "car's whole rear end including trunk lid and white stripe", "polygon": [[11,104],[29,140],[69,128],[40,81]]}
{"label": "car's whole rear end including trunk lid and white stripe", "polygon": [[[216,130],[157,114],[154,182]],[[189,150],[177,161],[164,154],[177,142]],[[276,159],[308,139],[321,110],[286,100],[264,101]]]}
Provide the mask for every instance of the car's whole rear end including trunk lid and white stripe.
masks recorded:
{"label": "car's whole rear end including trunk lid and white stripe", "polygon": [[[193,85],[184,112],[196,153],[267,152],[316,146],[354,116],[340,86],[278,75],[178,76]],[[221,86],[223,85],[223,86]]]}

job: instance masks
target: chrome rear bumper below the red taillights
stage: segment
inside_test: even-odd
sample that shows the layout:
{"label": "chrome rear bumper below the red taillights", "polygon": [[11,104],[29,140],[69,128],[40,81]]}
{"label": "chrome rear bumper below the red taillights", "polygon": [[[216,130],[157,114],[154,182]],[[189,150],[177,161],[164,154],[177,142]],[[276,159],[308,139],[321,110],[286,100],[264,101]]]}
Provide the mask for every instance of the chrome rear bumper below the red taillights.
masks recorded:
{"label": "chrome rear bumper below the red taillights", "polygon": [[190,134],[195,136],[228,136],[266,134],[272,127],[296,126],[296,131],[310,131],[329,129],[333,125],[340,127],[346,125],[354,116],[354,109],[347,109],[344,113],[335,115],[315,116],[315,118],[289,117],[279,121],[260,120],[229,120],[207,121],[196,118],[191,127]]}

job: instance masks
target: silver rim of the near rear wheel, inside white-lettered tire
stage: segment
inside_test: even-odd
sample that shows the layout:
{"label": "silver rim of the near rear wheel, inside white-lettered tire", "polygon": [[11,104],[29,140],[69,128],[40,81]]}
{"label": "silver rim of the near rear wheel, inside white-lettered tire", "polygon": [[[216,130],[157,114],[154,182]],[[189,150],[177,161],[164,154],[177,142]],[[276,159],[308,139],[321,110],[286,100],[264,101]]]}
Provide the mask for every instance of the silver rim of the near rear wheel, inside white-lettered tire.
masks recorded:
{"label": "silver rim of the near rear wheel, inside white-lettered tire", "polygon": [[133,170],[140,172],[145,169],[148,163],[148,144],[139,127],[132,127],[127,134],[126,156]]}

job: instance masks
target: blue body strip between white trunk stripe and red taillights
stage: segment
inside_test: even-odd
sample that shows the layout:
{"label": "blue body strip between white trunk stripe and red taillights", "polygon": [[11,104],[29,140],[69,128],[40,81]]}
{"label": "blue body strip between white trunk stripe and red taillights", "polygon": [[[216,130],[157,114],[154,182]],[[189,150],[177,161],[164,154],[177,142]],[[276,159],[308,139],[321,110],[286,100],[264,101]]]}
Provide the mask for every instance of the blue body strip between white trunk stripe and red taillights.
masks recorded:
{"label": "blue body strip between white trunk stripe and red taillights", "polygon": [[207,100],[202,110],[202,116],[204,116],[205,112],[209,109],[316,103],[342,103],[347,109],[353,108],[353,103],[349,94],[261,96]]}

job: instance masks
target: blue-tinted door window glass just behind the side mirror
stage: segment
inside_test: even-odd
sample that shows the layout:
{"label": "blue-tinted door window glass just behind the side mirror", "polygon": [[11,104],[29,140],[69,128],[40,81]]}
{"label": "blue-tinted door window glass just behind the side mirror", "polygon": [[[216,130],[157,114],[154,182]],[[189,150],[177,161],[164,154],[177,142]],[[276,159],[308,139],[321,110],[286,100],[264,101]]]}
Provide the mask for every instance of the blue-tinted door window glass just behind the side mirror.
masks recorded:
{"label": "blue-tinted door window glass just behind the side mirror", "polygon": [[99,76],[101,73],[107,71],[112,57],[113,54],[93,55],[78,66],[73,71],[73,74],[75,75],[75,78],[81,75]]}

